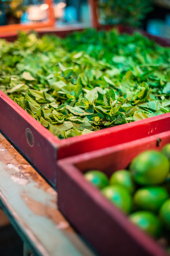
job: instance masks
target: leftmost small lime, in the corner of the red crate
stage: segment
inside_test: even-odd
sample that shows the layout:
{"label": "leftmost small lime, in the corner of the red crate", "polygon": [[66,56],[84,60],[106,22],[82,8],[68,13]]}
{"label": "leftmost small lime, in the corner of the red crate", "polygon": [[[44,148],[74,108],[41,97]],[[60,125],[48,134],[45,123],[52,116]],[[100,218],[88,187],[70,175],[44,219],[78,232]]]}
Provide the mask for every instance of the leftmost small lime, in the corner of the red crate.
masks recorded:
{"label": "leftmost small lime, in the corner of the red crate", "polygon": [[99,189],[102,189],[108,186],[108,178],[106,174],[100,171],[97,171],[97,170],[88,171],[84,174],[84,177]]}

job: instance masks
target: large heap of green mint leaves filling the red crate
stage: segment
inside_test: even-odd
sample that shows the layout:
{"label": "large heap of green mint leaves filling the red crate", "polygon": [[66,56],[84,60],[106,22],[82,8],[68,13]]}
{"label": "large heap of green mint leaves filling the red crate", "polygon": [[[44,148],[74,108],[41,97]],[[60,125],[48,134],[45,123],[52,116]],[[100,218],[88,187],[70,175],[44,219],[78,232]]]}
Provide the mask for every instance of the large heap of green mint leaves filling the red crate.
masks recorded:
{"label": "large heap of green mint leaves filling the red crate", "polygon": [[58,138],[170,112],[170,48],[140,33],[0,39],[0,89]]}

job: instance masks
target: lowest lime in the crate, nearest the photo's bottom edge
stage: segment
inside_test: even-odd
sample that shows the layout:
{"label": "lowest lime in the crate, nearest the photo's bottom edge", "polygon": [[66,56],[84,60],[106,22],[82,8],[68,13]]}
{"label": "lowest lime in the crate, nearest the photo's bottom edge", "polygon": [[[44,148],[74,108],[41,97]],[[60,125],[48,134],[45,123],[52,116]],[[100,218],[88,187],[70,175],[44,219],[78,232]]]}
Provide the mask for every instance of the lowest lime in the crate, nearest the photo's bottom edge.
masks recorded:
{"label": "lowest lime in the crate, nearest the photo's bottom edge", "polygon": [[129,218],[134,224],[152,237],[159,237],[161,233],[161,224],[155,214],[147,211],[140,211],[132,213]]}

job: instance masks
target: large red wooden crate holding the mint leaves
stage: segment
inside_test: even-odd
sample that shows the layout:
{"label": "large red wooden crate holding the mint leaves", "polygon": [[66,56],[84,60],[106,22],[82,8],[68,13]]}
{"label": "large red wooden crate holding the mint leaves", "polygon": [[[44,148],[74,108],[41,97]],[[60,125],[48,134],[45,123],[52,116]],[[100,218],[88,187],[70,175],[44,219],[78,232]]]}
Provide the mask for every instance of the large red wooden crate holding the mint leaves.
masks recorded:
{"label": "large red wooden crate holding the mint leaves", "polygon": [[[122,26],[118,28],[120,32],[130,33],[133,30]],[[64,37],[71,31],[50,31],[52,32]],[[43,35],[43,32],[40,32],[40,35]],[[149,34],[147,36],[153,37]],[[153,38],[162,45],[170,45],[169,39]],[[15,36],[8,35],[6,39],[11,41]],[[167,113],[91,134],[59,140],[0,90],[0,130],[53,184],[56,183],[57,159],[129,142],[169,129],[170,113]],[[28,143],[28,138],[30,140],[34,138],[32,145]]]}

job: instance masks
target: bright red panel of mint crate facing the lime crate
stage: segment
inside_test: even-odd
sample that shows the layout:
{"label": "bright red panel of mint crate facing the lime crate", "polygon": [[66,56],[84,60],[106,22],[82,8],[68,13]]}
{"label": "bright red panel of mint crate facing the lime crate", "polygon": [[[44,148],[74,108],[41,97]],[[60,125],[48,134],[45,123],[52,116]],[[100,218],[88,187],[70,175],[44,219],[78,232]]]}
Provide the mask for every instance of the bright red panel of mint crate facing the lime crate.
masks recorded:
{"label": "bright red panel of mint crate facing the lime crate", "polygon": [[170,113],[106,128],[61,141],[58,159],[90,152],[170,130]]}

